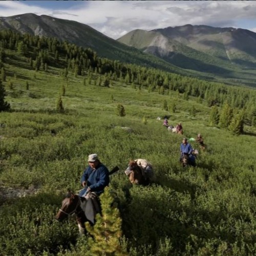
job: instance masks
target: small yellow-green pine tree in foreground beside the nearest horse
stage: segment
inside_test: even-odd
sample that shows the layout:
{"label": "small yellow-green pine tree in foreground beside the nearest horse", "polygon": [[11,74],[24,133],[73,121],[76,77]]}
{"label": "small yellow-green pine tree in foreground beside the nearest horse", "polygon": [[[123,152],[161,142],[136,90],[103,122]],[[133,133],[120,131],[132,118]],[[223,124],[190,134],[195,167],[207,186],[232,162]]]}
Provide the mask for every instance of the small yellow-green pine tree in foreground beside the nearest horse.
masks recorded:
{"label": "small yellow-green pine tree in foreground beside the nearest horse", "polygon": [[100,202],[102,213],[101,215],[97,214],[95,225],[90,226],[89,223],[86,223],[86,228],[93,237],[89,238],[90,250],[86,252],[86,255],[129,255],[121,244],[122,219],[108,187],[101,194]]}

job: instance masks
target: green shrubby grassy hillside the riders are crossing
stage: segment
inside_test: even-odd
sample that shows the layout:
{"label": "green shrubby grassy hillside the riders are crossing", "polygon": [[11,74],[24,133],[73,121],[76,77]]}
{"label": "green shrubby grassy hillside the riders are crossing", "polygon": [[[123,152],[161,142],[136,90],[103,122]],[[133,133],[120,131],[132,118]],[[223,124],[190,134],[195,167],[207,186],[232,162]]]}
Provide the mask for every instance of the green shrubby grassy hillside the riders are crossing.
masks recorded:
{"label": "green shrubby grassy hillside the riders are crossing", "polygon": [[[1,254],[89,253],[88,236],[78,237],[73,218],[65,223],[53,219],[67,188],[81,188],[80,176],[91,153],[109,169],[118,165],[124,170],[136,158],[154,166],[153,186],[132,187],[123,172],[111,178],[129,255],[256,253],[255,128],[245,126],[245,134],[233,136],[208,126],[205,101],[184,100],[174,91],[161,95],[139,90],[115,80],[109,88],[99,86],[96,74],[84,84],[82,76],[63,79],[62,69],[52,67],[35,72],[26,58],[7,54],[4,84],[12,111],[0,113]],[[59,95],[63,113],[56,111]],[[164,111],[164,101],[169,109],[175,102],[177,111]],[[119,103],[124,117],[116,115]],[[193,106],[195,115],[189,114]],[[170,124],[182,122],[184,136],[203,135],[208,150],[200,152],[196,168],[180,166],[182,137],[157,120],[165,115]],[[10,188],[29,195],[6,200]]]}

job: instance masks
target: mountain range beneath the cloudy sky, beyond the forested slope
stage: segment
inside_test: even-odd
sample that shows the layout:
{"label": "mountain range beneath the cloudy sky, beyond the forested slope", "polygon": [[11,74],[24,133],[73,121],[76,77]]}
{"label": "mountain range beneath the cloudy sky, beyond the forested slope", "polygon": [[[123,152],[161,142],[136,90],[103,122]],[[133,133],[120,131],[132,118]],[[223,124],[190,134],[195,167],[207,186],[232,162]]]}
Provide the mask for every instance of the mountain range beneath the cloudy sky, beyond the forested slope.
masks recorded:
{"label": "mountain range beneath the cloudy sky, beyond the forested slope", "polygon": [[99,56],[230,84],[254,86],[256,33],[245,29],[178,26],[134,30],[114,40],[88,25],[33,13],[0,17],[0,30],[56,37]]}

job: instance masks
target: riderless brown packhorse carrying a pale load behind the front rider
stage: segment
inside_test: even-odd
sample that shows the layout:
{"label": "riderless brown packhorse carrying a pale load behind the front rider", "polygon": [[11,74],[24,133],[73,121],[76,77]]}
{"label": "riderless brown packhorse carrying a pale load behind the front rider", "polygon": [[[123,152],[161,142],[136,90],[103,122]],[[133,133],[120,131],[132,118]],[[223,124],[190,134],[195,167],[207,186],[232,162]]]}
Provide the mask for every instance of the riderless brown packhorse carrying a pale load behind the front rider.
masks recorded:
{"label": "riderless brown packhorse carrying a pale load behind the front rider", "polygon": [[[143,161],[147,164],[148,174],[145,173],[147,167],[140,166],[137,161]],[[151,183],[151,177],[153,176],[152,166],[144,159],[130,160],[129,166],[125,171],[125,174],[129,177],[132,184],[147,186]]]}

